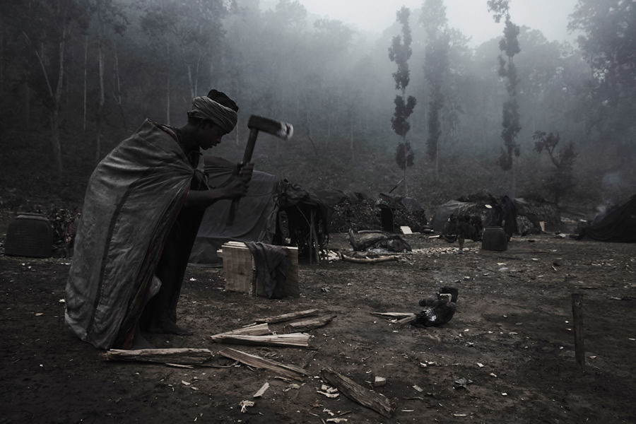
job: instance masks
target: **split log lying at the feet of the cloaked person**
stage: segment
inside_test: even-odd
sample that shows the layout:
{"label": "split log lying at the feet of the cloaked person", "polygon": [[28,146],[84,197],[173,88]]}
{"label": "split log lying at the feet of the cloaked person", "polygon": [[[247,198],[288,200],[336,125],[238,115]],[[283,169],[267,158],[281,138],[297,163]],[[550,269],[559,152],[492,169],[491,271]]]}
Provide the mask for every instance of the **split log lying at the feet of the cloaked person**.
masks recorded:
{"label": "split log lying at the feet of the cloaked person", "polygon": [[178,365],[199,365],[210,358],[212,358],[210,349],[194,348],[139,349],[138,351],[110,349],[105,353],[106,360],[127,360]]}

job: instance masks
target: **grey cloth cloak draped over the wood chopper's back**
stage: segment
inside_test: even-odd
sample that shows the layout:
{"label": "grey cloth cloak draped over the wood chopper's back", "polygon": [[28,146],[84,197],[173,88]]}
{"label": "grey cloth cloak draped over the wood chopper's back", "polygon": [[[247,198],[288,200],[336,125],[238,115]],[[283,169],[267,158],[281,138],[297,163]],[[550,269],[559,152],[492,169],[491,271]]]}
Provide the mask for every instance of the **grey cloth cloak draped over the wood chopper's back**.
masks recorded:
{"label": "grey cloth cloak draped over the wood chopper's back", "polygon": [[66,283],[65,321],[83,341],[131,343],[194,173],[177,141],[148,120],[93,171]]}

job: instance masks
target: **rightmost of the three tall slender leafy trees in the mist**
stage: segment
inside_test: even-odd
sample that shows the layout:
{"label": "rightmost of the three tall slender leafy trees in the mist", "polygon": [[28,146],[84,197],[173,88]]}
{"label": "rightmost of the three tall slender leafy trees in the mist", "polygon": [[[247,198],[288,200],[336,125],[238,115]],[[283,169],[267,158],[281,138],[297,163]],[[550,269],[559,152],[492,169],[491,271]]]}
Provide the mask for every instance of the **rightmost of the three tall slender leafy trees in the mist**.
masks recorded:
{"label": "rightmost of the three tall slender leafy trees in the mist", "polygon": [[518,158],[521,151],[517,143],[517,135],[521,131],[519,123],[519,103],[517,102],[517,67],[514,66],[514,55],[521,52],[519,47],[519,25],[515,25],[510,20],[511,0],[488,0],[488,11],[493,12],[496,23],[500,23],[501,18],[505,18],[504,37],[499,42],[499,49],[502,52],[499,59],[499,76],[506,78],[506,91],[508,98],[503,104],[503,118],[501,138],[504,146],[501,149],[499,165],[502,170],[510,171],[510,191],[508,195],[514,199],[517,191],[517,173],[515,170],[515,158]]}

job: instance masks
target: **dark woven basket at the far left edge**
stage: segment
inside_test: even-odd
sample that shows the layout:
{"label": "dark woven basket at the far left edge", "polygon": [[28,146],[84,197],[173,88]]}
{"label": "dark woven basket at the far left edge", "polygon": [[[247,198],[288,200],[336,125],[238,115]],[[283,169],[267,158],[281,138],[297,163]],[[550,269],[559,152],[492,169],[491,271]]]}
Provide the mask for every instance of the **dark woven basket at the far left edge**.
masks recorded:
{"label": "dark woven basket at the far left edge", "polygon": [[6,230],[4,254],[31,258],[49,258],[53,254],[53,230],[46,216],[21,213]]}

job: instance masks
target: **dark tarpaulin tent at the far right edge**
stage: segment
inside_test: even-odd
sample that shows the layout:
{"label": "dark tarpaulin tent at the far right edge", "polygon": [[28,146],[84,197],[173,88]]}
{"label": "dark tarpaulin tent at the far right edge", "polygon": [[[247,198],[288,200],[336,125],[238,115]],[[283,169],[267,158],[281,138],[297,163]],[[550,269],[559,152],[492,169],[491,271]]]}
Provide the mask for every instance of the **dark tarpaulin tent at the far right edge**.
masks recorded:
{"label": "dark tarpaulin tent at the far right edge", "polygon": [[579,238],[601,242],[636,242],[636,195],[598,222],[584,227]]}

